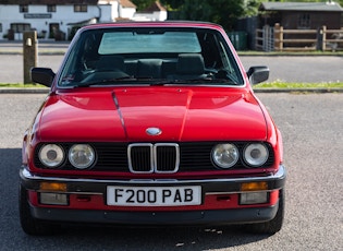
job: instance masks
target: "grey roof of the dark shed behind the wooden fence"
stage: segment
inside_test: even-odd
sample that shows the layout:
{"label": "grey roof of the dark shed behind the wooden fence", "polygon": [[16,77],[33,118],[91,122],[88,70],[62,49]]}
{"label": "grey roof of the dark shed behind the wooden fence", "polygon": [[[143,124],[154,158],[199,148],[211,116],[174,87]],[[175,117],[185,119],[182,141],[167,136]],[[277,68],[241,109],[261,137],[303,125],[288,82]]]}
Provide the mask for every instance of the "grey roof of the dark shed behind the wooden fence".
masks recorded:
{"label": "grey roof of the dark shed behind the wooden fence", "polygon": [[262,2],[259,11],[321,11],[343,12],[343,8],[334,2]]}

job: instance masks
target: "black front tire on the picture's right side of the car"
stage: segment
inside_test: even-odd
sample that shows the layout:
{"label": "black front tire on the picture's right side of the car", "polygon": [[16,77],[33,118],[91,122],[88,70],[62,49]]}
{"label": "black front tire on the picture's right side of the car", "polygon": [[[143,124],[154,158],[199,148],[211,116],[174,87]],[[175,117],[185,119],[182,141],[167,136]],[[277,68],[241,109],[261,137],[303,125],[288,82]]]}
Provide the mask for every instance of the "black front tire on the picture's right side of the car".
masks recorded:
{"label": "black front tire on the picture's right side of the car", "polygon": [[254,234],[274,235],[281,230],[284,218],[284,190],[279,191],[279,208],[273,219],[266,223],[256,223],[246,225],[246,229]]}

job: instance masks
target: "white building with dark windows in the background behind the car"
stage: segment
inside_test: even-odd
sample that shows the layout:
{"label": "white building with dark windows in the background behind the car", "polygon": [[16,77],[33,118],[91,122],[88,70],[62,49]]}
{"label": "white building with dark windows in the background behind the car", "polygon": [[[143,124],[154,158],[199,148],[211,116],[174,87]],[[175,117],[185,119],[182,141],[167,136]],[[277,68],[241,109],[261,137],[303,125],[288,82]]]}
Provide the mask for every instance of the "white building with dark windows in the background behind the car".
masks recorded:
{"label": "white building with dark windows in the background behind the car", "polygon": [[[0,0],[0,39],[21,40],[23,32],[35,29],[40,39],[65,40],[83,25],[134,20],[135,14],[130,0]],[[156,16],[147,20],[167,19]]]}

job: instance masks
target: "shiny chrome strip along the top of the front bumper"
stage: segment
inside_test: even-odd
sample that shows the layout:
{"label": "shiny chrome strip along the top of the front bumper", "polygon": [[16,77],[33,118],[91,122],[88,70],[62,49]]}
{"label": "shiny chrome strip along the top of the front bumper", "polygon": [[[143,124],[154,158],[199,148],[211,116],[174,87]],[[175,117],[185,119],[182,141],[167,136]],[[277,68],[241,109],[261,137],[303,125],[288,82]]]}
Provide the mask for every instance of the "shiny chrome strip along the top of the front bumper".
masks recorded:
{"label": "shiny chrome strip along the top of the front bumper", "polygon": [[271,181],[271,180],[281,180],[286,178],[286,170],[285,167],[280,165],[278,172],[274,175],[270,174],[269,176],[266,177],[248,177],[248,178],[226,178],[226,179],[197,179],[197,180],[171,180],[168,179],[167,181],[163,181],[162,179],[158,180],[151,180],[151,179],[146,179],[146,180],[101,180],[101,179],[79,179],[79,178],[57,178],[57,177],[42,177],[42,176],[36,176],[32,175],[26,168],[22,168],[20,170],[20,176],[22,179],[26,180],[32,180],[32,181],[60,181],[60,182],[93,182],[93,183],[106,183],[106,184],[111,184],[111,183],[124,183],[124,184],[166,184],[169,183],[171,186],[173,184],[184,184],[184,183],[210,183],[210,182],[258,182],[258,181]]}

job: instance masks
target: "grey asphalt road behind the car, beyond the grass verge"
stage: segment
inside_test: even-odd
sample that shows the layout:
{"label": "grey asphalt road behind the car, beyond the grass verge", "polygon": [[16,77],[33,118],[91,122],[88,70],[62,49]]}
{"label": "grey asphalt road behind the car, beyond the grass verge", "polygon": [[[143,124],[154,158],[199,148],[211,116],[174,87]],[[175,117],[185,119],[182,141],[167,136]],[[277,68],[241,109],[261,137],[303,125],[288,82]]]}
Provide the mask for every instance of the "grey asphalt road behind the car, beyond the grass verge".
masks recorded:
{"label": "grey asphalt road behind the car, beyond the grass verge", "polygon": [[[58,71],[69,41],[38,41],[37,67]],[[247,71],[253,65],[267,65],[270,69],[268,82],[334,83],[343,82],[343,56],[252,56],[241,55],[241,61]],[[23,82],[23,43],[0,40],[0,83]],[[331,89],[331,92],[340,89]],[[3,92],[3,89],[2,89]],[[13,92],[13,89],[12,89]],[[32,91],[33,92],[33,91]],[[261,91],[257,91],[261,92]]]}

